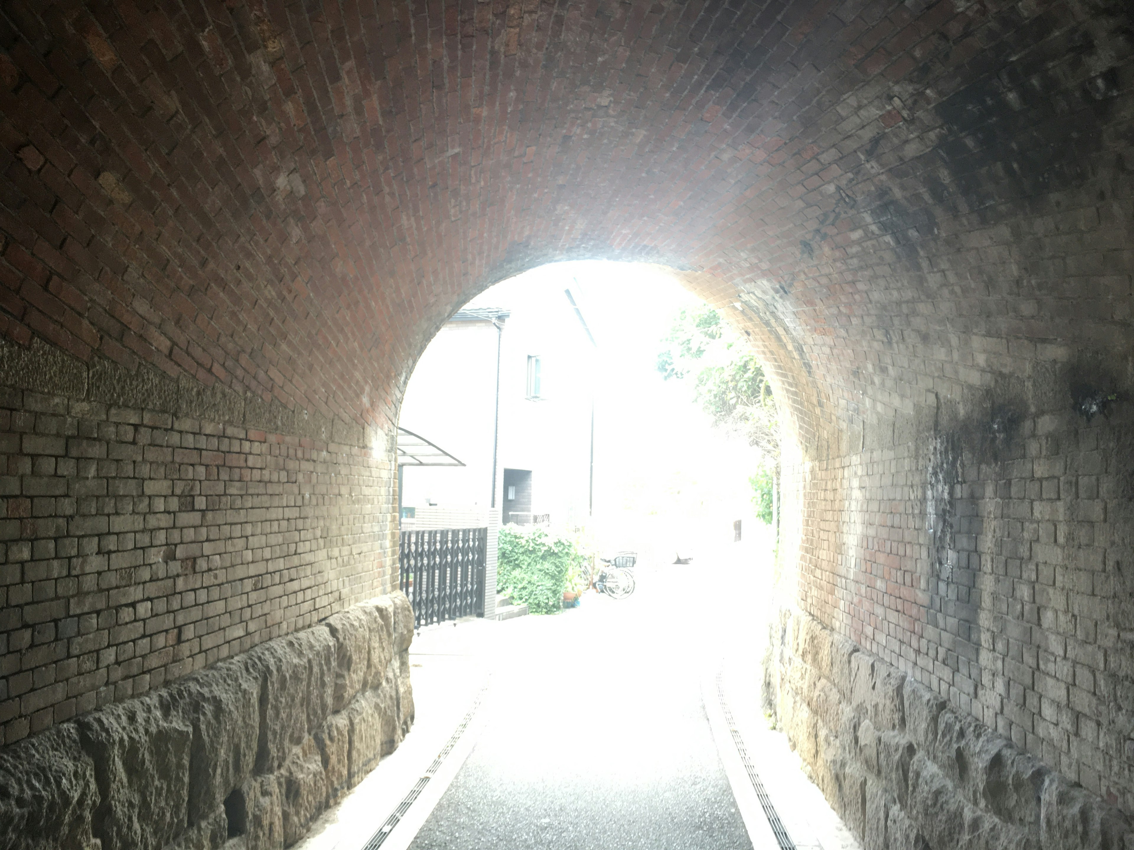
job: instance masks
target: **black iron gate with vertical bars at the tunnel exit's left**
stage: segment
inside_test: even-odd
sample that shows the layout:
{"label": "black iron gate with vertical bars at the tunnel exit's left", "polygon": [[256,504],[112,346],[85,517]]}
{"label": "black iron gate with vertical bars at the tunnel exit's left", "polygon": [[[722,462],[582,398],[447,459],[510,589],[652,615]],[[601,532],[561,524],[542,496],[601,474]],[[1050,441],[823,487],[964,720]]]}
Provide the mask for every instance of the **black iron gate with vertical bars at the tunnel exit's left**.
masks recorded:
{"label": "black iron gate with vertical bars at the tunnel exit's left", "polygon": [[484,614],[488,528],[401,532],[400,587],[417,628]]}

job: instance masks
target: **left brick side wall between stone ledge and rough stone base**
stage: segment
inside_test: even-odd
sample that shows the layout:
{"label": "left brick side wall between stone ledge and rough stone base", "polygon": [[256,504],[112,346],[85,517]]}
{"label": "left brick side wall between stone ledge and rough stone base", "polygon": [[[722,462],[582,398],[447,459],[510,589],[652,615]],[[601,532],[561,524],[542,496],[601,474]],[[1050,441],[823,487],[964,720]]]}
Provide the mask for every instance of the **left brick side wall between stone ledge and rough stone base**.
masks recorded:
{"label": "left brick side wall between stone ledge and rough stone base", "polygon": [[0,392],[5,742],[388,590],[381,448]]}

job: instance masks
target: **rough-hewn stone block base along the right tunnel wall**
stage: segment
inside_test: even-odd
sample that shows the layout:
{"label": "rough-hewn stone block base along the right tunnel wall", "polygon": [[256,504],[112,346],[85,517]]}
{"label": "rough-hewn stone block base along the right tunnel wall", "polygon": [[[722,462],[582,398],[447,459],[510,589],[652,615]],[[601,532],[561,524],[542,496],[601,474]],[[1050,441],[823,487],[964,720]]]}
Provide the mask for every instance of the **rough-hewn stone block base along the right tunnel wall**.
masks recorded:
{"label": "rough-hewn stone block base along the right tunnel wall", "polygon": [[1134,825],[812,617],[770,636],[777,722],[865,850],[1134,850]]}

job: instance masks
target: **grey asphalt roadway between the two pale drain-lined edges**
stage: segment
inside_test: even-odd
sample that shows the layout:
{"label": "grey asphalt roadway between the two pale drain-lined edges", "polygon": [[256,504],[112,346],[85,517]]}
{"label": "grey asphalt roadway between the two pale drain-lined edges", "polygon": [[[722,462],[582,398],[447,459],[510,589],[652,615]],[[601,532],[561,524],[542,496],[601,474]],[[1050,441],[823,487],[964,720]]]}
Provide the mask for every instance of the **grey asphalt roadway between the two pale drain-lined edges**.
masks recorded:
{"label": "grey asphalt roadway between the two pale drain-lined edges", "polygon": [[751,848],[701,696],[727,592],[646,567],[628,600],[509,623],[483,732],[412,850]]}

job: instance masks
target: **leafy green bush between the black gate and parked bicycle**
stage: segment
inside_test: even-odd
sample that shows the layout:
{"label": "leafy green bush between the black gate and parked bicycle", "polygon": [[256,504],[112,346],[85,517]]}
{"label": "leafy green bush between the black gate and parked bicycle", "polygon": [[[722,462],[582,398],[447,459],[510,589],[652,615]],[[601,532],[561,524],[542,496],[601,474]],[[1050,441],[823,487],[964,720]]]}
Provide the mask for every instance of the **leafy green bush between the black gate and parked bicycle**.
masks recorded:
{"label": "leafy green bush between the black gate and parked bicycle", "polygon": [[568,576],[582,558],[568,537],[540,527],[505,526],[500,529],[497,587],[533,614],[556,613],[562,610]]}

